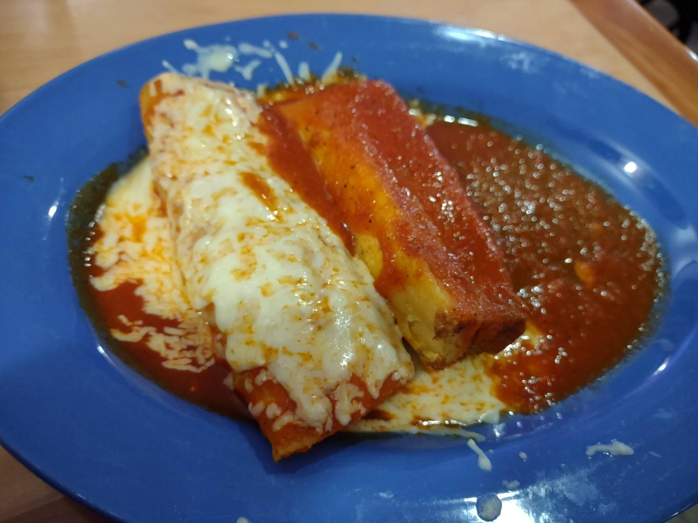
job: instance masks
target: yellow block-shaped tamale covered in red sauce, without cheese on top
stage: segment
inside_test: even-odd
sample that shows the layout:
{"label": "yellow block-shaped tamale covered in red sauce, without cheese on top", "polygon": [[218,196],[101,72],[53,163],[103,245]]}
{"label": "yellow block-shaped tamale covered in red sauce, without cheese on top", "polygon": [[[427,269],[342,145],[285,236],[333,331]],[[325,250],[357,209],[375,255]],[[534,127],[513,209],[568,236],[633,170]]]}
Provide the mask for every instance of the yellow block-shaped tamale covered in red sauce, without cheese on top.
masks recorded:
{"label": "yellow block-shaped tamale covered in red sauce, without cheese on top", "polygon": [[496,354],[523,333],[489,225],[391,86],[333,85],[272,111],[292,125],[285,139],[297,133],[308,149],[317,183],[425,363],[443,368],[468,351]]}

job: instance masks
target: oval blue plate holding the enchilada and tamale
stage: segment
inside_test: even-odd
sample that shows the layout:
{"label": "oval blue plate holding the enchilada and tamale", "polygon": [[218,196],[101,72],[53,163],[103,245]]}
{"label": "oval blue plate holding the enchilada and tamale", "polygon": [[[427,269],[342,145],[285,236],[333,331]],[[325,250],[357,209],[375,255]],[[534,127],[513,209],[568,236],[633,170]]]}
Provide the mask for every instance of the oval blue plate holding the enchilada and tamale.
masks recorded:
{"label": "oval blue plate holding the enchilada and tamale", "polygon": [[[322,71],[341,51],[343,64],[406,96],[463,105],[544,144],[658,232],[671,289],[653,338],[540,416],[482,427],[491,472],[477,468],[465,440],[438,437],[339,436],[274,464],[256,427],[179,400],[103,349],[70,280],[70,201],[144,144],[138,89],[163,59],[175,67],[193,61],[184,38],[267,39],[294,70],[305,60]],[[283,80],[273,59],[262,62],[253,82],[232,70],[213,77],[243,86]],[[698,129],[669,109],[579,63],[485,31],[281,16],[105,54],[0,119],[0,440],[59,490],[133,522],[477,521],[475,501],[486,494],[499,494],[505,521],[662,520],[698,501],[697,170]],[[611,439],[634,455],[586,457],[586,446]],[[520,486],[506,490],[503,480]]]}

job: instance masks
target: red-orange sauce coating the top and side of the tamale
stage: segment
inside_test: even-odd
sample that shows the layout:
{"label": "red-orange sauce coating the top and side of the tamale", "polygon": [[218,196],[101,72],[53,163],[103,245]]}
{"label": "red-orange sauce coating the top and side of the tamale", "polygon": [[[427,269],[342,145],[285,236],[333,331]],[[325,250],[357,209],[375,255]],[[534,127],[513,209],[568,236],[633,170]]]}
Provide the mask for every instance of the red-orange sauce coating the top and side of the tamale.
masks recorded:
{"label": "red-orange sauce coating the top and side of the tamale", "polygon": [[[517,302],[498,253],[491,248],[489,229],[472,204],[459,193],[451,167],[434,155],[433,146],[409,116],[403,100],[383,82],[328,86],[311,96],[271,107],[283,141],[294,127],[311,130],[303,165],[308,178],[289,179],[283,165],[272,165],[294,187],[311,185],[328,192],[330,201],[353,231],[369,232],[383,250],[383,268],[376,289],[384,296],[402,287],[403,273],[389,245],[396,240],[409,255],[426,261],[462,303],[488,306],[488,312],[512,314]],[[286,122],[284,122],[284,120]],[[272,143],[279,141],[274,139]],[[313,174],[310,150],[317,149],[324,176]],[[311,172],[313,171],[313,172]],[[362,180],[368,179],[370,181]],[[320,190],[320,189],[317,189]],[[348,195],[348,196],[345,196]],[[390,205],[374,212],[376,198]],[[325,206],[318,208],[325,215]],[[335,227],[336,230],[336,227]],[[383,241],[385,239],[385,241]],[[475,300],[475,296],[482,299]]]}

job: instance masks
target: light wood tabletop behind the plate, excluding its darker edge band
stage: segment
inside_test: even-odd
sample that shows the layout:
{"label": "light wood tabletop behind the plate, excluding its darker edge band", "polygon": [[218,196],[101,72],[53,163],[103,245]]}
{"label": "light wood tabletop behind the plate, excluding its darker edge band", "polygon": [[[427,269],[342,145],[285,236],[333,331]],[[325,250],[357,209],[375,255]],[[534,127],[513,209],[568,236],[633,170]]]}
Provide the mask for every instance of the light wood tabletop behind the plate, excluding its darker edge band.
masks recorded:
{"label": "light wood tabletop behind the plate, excluding its darker edge band", "polygon": [[489,29],[588,63],[666,103],[568,0],[0,0],[0,10],[0,112],[66,69],[149,36],[236,18],[333,10]]}

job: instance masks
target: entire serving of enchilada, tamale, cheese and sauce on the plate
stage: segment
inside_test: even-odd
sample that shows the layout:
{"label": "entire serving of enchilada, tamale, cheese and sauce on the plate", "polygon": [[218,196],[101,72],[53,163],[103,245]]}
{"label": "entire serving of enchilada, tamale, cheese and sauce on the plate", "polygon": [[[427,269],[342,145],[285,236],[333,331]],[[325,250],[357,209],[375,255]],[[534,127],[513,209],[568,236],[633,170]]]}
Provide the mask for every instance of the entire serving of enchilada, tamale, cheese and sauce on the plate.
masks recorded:
{"label": "entire serving of enchilada, tamale, cheese and sauce on the plate", "polygon": [[77,230],[73,275],[131,361],[255,418],[275,459],[539,411],[648,325],[651,228],[540,147],[385,82],[272,94],[146,84],[149,156]]}

